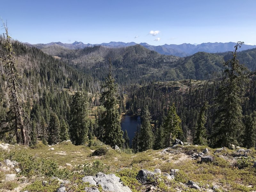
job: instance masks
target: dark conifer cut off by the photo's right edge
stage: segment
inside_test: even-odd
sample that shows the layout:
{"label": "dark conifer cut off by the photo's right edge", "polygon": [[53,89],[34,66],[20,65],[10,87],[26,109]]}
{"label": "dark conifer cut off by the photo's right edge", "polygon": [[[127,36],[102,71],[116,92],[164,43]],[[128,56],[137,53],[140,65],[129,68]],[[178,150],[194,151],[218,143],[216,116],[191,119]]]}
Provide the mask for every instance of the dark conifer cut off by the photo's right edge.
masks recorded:
{"label": "dark conifer cut off by the photo's right edge", "polygon": [[256,147],[256,111],[245,116],[244,147]]}

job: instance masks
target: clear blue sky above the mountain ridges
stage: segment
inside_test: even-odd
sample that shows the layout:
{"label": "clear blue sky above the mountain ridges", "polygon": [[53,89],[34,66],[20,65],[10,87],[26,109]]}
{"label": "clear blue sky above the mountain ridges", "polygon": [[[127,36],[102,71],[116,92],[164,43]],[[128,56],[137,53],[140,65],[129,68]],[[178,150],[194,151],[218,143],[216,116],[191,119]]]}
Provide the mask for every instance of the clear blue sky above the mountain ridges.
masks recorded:
{"label": "clear blue sky above the mountain ridges", "polygon": [[256,44],[255,0],[8,0],[0,16],[14,39],[31,44]]}

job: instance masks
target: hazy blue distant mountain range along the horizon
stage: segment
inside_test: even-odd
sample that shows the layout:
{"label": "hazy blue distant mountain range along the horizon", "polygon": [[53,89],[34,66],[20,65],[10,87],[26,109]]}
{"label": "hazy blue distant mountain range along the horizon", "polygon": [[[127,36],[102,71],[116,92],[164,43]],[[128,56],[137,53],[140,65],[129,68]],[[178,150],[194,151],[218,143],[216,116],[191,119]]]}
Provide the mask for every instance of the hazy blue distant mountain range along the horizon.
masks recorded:
{"label": "hazy blue distant mountain range along the horizon", "polygon": [[[84,44],[83,42],[77,42],[75,41],[72,44],[68,43],[61,43],[61,42],[52,42],[48,44],[29,44],[29,43],[24,43],[28,44],[30,46],[35,46],[39,49],[45,48],[45,47],[51,47],[51,46],[60,46],[63,48],[67,49],[83,49],[85,47],[92,47],[95,45],[101,45],[105,47],[110,47],[110,48],[121,48],[121,47],[128,47],[132,45],[136,45],[134,42],[130,43],[124,43],[124,42],[109,42],[109,43],[102,43],[102,44]],[[185,57],[189,55],[193,55],[196,52],[208,52],[208,53],[217,53],[217,52],[228,52],[228,51],[233,51],[234,46],[236,43],[234,42],[228,42],[228,43],[202,43],[202,44],[187,44],[183,43],[180,45],[176,44],[164,44],[164,45],[149,45],[147,43],[140,43],[143,47],[151,50],[151,51],[156,51],[160,54],[164,55],[174,55],[174,56],[179,56],[179,57]],[[247,50],[247,49],[252,49],[256,48],[256,45],[246,45],[244,44],[239,51]]]}

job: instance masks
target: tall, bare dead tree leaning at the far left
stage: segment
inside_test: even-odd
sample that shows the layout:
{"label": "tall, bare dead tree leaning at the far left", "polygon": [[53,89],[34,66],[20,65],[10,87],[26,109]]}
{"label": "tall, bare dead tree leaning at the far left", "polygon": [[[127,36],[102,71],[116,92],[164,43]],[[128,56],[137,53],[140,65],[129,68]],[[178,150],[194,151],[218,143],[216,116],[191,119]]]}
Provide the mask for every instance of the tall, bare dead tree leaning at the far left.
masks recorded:
{"label": "tall, bare dead tree leaning at the far left", "polygon": [[[2,20],[3,21],[3,20]],[[20,84],[17,80],[18,77],[18,68],[17,62],[14,57],[14,52],[12,49],[11,37],[8,35],[8,28],[3,22],[3,27],[5,29],[5,39],[4,39],[4,47],[7,51],[6,57],[4,58],[4,68],[6,73],[6,81],[7,81],[7,91],[9,96],[9,102],[11,105],[12,113],[14,114],[14,129],[16,134],[17,143],[22,143],[23,145],[28,145],[30,141],[30,137],[28,136],[28,128],[26,126],[27,116],[25,115],[25,111],[22,108],[22,100],[20,98]],[[20,133],[18,132],[20,129],[21,139],[20,141]]]}

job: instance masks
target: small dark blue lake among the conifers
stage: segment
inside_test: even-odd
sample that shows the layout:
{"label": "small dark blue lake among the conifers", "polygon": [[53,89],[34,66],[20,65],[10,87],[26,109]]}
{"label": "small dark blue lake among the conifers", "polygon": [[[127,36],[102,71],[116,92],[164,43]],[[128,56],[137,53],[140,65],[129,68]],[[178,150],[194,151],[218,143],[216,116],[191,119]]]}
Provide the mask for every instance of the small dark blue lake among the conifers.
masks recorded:
{"label": "small dark blue lake among the conifers", "polygon": [[135,115],[123,115],[121,119],[121,128],[123,131],[127,130],[130,146],[132,145],[132,138],[137,130],[137,125],[140,125],[140,116]]}

